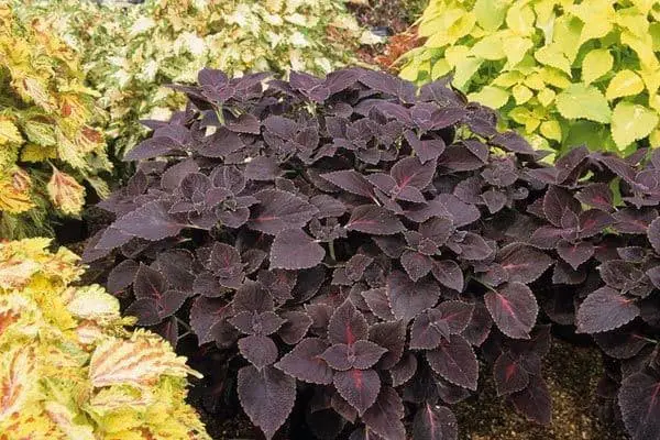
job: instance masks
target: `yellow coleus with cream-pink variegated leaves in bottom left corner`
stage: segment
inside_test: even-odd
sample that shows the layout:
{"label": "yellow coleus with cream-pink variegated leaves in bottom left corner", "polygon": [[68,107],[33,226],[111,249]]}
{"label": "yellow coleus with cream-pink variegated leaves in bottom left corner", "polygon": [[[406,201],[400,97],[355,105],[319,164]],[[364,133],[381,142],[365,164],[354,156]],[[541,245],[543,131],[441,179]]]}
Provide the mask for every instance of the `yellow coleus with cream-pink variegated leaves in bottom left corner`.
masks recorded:
{"label": "yellow coleus with cream-pink variegated leaves in bottom left corner", "polygon": [[199,375],[160,336],[130,332],[48,239],[0,243],[1,439],[210,439],[185,403]]}

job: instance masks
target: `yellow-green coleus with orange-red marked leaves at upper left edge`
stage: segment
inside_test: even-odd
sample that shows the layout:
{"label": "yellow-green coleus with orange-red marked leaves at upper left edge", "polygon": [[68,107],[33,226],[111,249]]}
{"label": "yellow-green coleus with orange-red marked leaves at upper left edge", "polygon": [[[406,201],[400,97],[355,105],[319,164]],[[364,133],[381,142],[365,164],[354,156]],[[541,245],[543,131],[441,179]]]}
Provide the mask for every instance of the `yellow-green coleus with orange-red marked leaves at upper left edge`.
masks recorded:
{"label": "yellow-green coleus with orange-red marked leaves at upper left edge", "polygon": [[[0,6],[0,235],[51,231],[78,216],[84,183],[99,194],[110,169],[98,94],[85,86],[80,56],[40,18]],[[51,212],[51,215],[48,213]]]}

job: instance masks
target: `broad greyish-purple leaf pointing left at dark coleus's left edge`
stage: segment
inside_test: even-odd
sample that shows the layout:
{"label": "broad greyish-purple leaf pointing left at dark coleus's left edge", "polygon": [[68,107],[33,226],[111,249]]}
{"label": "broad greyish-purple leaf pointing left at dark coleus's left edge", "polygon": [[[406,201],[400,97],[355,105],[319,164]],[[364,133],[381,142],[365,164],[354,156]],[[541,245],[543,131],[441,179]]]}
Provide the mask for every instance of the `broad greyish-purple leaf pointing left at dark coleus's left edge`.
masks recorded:
{"label": "broad greyish-purple leaf pointing left at dark coleus's left edge", "polygon": [[186,224],[167,212],[165,202],[156,200],[117,219],[112,228],[131,237],[157,241],[177,235]]}

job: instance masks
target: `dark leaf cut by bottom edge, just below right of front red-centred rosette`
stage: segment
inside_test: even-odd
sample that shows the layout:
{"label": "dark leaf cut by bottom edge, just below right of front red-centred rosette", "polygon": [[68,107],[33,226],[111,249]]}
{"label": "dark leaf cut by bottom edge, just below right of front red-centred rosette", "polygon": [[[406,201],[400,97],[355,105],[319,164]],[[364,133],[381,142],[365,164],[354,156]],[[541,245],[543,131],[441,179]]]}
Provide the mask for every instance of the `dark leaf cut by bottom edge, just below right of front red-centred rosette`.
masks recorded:
{"label": "dark leaf cut by bottom edge, just below right of front red-centred rosette", "polygon": [[374,405],[362,416],[362,421],[387,440],[406,440],[403,417],[404,404],[398,393],[389,386],[384,386]]}

